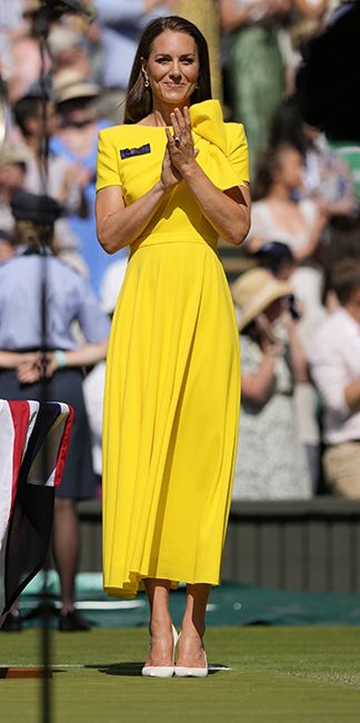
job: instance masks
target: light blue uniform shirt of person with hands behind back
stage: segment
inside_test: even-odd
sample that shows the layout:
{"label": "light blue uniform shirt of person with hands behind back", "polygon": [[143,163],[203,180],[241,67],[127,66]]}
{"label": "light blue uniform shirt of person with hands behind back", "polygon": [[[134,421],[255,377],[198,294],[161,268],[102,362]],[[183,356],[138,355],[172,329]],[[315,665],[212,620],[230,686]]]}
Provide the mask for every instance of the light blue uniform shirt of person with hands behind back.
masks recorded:
{"label": "light blue uniform shirt of person with hands behind back", "polygon": [[[47,338],[42,339],[41,297],[46,278]],[[0,265],[0,349],[40,348],[70,350],[77,320],[86,341],[108,338],[109,318],[89,283],[52,254],[20,252]]]}

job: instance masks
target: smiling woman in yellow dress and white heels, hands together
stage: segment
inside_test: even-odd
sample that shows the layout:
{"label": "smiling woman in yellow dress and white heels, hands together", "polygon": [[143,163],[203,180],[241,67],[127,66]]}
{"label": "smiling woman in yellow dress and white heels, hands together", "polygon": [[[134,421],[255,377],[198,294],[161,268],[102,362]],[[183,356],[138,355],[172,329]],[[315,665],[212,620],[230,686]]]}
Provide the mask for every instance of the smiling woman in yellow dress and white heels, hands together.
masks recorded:
{"label": "smiling woman in yellow dress and white heels, hands together", "polygon": [[107,365],[104,588],[146,588],[142,674],[162,677],[208,672],[204,613],[220,582],[238,434],[239,340],[217,242],[239,245],[249,229],[247,141],[210,98],[203,36],[160,18],[140,39],[124,125],[99,135],[99,241],[109,254],[130,246]]}

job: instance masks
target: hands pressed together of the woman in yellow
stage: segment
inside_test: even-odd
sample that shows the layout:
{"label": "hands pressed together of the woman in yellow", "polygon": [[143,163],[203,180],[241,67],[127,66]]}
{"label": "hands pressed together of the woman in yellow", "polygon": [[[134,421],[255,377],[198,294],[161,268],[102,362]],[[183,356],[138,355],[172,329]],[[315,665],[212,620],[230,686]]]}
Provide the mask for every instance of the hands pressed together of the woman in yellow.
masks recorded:
{"label": "hands pressed together of the woman in yellow", "polygon": [[[168,143],[161,172],[161,181],[167,189],[184,178],[199,152],[192,140],[189,108],[184,108],[183,113],[176,108],[170,118],[173,136],[166,128]],[[176,142],[176,138],[180,140]]]}

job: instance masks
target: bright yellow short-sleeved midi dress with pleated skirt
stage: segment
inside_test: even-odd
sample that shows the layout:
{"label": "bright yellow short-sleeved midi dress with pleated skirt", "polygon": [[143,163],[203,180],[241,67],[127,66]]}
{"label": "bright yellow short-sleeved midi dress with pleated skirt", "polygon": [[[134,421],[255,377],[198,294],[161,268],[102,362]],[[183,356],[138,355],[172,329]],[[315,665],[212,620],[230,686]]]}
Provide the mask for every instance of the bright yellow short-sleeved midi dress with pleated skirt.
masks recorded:
{"label": "bright yellow short-sleeved midi dress with pleated skirt", "polygon": [[[219,101],[190,108],[198,164],[224,190],[248,180],[243,127]],[[160,178],[160,127],[99,136],[97,188],[126,205]],[[108,351],[103,428],[103,584],[220,582],[240,403],[239,335],[218,237],[187,185],[166,195],[131,256]]]}

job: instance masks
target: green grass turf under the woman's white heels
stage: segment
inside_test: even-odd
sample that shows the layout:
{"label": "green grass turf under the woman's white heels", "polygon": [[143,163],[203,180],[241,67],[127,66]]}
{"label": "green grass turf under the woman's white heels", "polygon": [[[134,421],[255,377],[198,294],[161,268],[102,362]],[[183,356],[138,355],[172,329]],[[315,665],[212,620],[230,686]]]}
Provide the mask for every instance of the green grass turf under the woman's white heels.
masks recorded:
{"label": "green grass turf under the woman's white heels", "polygon": [[[204,680],[140,676],[144,628],[53,633],[53,723],[358,723],[360,631],[209,628]],[[0,666],[37,665],[39,631],[0,635]],[[0,680],[2,723],[41,721],[41,681]]]}

